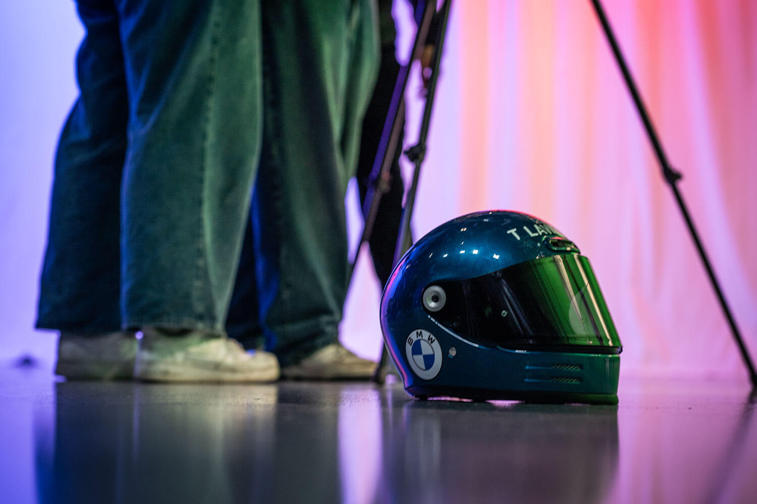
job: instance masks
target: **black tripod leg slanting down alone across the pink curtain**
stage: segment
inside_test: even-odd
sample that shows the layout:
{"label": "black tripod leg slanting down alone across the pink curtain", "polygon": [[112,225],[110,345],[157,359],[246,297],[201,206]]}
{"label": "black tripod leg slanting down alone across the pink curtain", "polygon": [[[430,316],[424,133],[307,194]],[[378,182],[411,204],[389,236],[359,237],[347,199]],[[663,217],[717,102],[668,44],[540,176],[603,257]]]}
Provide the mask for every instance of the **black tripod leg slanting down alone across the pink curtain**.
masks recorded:
{"label": "black tripod leg slanting down alone across the pink curtain", "polygon": [[631,77],[631,72],[628,70],[628,66],[625,64],[625,59],[623,58],[623,54],[621,54],[620,47],[618,46],[618,42],[615,40],[615,35],[613,35],[612,33],[612,28],[610,28],[609,22],[602,8],[602,5],[600,4],[600,1],[591,0],[591,3],[594,6],[594,11],[597,12],[597,17],[599,17],[600,19],[602,29],[605,32],[605,36],[607,37],[610,48],[612,48],[612,54],[615,56],[615,61],[617,61],[621,73],[623,74],[623,79],[628,86],[628,91],[631,92],[631,97],[634,98],[634,104],[636,105],[639,115],[641,116],[641,120],[644,123],[646,134],[649,136],[650,141],[652,142],[655,154],[660,163],[660,166],[662,167],[662,175],[664,175],[665,180],[668,181],[668,184],[673,191],[673,195],[678,202],[678,207],[681,209],[681,213],[684,215],[684,220],[686,221],[687,227],[689,228],[691,238],[694,241],[694,245],[696,246],[697,251],[699,251],[699,257],[702,259],[702,263],[705,266],[710,283],[712,283],[712,288],[715,289],[715,294],[718,295],[718,301],[720,301],[720,306],[723,310],[723,314],[728,321],[728,325],[731,326],[731,333],[734,335],[736,344],[738,345],[739,351],[741,352],[741,357],[744,361],[744,364],[746,365],[746,369],[749,372],[749,379],[752,381],[752,388],[757,388],[757,373],[755,373],[755,366],[752,363],[752,358],[749,357],[749,351],[746,350],[746,346],[744,345],[743,339],[741,338],[741,333],[736,326],[736,320],[734,320],[734,316],[731,314],[731,308],[728,307],[728,304],[725,301],[725,296],[723,295],[723,292],[720,288],[720,283],[718,283],[718,279],[715,277],[715,271],[712,270],[712,264],[707,257],[704,246],[702,246],[702,241],[699,240],[699,233],[696,232],[696,228],[694,227],[694,223],[691,219],[691,216],[689,215],[687,206],[684,203],[684,198],[683,196],[681,196],[681,193],[678,191],[678,187],[676,186],[676,183],[681,179],[681,174],[672,169],[671,165],[668,163],[668,158],[665,156],[665,152],[662,150],[662,144],[660,144],[659,142],[659,137],[657,136],[655,128],[652,125],[650,116],[646,113],[646,108],[641,101],[639,91],[637,90],[636,84],[634,83],[634,79]]}

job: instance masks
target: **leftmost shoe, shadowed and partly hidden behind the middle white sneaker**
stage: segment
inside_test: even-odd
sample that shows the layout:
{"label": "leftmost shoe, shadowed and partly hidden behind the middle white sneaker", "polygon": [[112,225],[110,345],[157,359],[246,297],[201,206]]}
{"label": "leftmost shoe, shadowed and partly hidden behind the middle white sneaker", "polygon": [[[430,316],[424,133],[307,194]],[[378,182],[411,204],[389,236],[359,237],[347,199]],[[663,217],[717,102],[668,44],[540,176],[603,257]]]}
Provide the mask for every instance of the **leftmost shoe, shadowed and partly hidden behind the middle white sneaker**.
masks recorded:
{"label": "leftmost shoe, shadowed and partly hidden behind the middle white sneaker", "polygon": [[133,332],[86,336],[61,332],[55,374],[79,380],[128,380],[132,378],[136,353]]}

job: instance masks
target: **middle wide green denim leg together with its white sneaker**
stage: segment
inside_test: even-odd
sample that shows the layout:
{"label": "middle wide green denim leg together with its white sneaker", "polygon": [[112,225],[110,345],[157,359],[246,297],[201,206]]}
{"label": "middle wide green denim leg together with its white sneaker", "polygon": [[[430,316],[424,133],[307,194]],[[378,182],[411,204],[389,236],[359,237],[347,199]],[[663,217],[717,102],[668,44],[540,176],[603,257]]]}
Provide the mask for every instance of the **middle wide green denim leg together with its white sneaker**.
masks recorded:
{"label": "middle wide green denim leg together with its white sneaker", "polygon": [[224,323],[260,156],[257,0],[120,0],[129,91],[121,192],[122,320],[135,376],[276,379]]}

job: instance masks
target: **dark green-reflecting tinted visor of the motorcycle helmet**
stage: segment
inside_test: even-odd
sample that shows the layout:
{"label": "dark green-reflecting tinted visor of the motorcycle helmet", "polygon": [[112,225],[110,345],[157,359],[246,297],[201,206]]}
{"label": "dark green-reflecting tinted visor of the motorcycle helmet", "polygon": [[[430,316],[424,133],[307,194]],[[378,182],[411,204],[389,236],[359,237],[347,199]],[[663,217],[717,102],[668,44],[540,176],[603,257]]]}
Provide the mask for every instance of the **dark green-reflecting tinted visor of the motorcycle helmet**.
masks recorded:
{"label": "dark green-reflecting tinted visor of the motorcycle helmet", "polygon": [[[467,280],[435,283],[446,300],[431,317],[479,345],[512,350],[619,354],[587,258],[554,255]],[[433,307],[432,307],[433,308]]]}

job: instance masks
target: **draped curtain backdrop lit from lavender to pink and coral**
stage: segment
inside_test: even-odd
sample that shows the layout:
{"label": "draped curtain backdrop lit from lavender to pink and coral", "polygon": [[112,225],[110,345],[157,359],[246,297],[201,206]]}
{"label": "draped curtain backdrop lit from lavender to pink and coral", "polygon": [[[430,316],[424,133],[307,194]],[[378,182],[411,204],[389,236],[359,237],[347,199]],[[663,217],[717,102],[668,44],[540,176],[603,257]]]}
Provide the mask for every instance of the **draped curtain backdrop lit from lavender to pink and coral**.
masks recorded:
{"label": "draped curtain backdrop lit from lavender to pink and coral", "polygon": [[[398,52],[412,26],[400,2]],[[610,2],[725,295],[757,358],[757,2]],[[76,96],[69,2],[0,5],[0,356],[54,358],[35,332],[51,164]],[[419,125],[408,90],[407,143]],[[347,198],[357,240],[354,193]],[[588,0],[458,0],[450,16],[413,230],[467,212],[537,215],[592,261],[624,343],[621,375],[743,377],[739,354]],[[378,356],[367,254],[342,339]]]}

